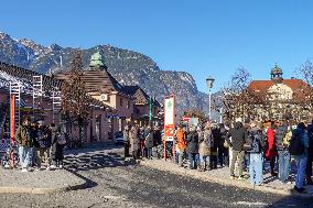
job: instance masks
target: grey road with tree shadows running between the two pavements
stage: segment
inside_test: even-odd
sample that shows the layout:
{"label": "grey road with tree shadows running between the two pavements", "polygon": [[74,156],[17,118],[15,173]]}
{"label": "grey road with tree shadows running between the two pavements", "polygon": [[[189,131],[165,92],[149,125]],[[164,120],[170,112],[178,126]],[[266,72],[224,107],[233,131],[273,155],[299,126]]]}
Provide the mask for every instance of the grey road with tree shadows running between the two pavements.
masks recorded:
{"label": "grey road with tree shadows running between the two pavements", "polygon": [[119,153],[120,149],[72,152],[66,167],[88,188],[51,195],[1,194],[0,207],[313,207],[311,198],[224,186],[125,163]]}

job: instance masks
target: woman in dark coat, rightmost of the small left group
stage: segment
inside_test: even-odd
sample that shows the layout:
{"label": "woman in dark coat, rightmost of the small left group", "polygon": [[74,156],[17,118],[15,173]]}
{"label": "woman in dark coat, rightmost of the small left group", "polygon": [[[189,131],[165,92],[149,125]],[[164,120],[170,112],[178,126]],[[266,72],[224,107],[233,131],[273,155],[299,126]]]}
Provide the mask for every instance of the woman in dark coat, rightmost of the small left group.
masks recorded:
{"label": "woman in dark coat, rightmost of the small left group", "polygon": [[51,168],[63,168],[63,160],[64,160],[64,145],[58,144],[57,138],[61,132],[61,128],[56,128],[54,123],[51,124],[52,130],[52,144],[51,144],[51,160],[52,166]]}

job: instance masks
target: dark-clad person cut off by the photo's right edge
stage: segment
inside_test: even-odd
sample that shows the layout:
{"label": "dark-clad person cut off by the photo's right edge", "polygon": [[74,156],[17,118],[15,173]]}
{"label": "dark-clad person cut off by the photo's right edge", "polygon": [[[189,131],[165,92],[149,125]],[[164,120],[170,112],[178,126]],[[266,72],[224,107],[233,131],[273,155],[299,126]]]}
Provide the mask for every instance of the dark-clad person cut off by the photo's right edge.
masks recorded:
{"label": "dark-clad person cut off by the photo's right edge", "polygon": [[312,162],[313,162],[313,120],[311,124],[307,125],[307,135],[309,135],[309,150],[307,150],[307,162],[305,168],[305,178],[307,185],[313,185],[312,182]]}

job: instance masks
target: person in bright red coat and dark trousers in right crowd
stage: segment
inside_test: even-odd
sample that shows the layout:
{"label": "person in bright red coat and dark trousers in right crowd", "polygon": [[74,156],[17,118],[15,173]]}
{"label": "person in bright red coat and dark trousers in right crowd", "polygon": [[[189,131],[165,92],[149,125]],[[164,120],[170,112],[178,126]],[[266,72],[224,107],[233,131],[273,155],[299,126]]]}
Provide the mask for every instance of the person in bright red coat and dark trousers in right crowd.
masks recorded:
{"label": "person in bright red coat and dark trousers in right crowd", "polygon": [[274,163],[277,157],[277,146],[276,146],[276,129],[277,125],[272,121],[268,131],[267,131],[267,150],[266,150],[266,158],[270,161],[271,176],[277,176],[278,174],[274,172]]}

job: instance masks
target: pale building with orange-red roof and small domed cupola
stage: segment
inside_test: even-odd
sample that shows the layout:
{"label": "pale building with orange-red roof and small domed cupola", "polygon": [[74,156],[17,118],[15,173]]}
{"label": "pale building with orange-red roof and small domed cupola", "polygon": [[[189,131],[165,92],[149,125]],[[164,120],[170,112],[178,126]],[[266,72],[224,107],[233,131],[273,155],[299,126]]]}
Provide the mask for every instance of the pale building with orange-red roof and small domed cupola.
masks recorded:
{"label": "pale building with orange-red roof and small domed cupola", "polygon": [[245,116],[291,122],[311,119],[312,87],[301,79],[284,79],[282,69],[277,65],[270,75],[270,80],[252,80],[248,86],[250,111]]}

